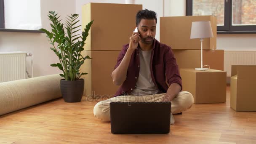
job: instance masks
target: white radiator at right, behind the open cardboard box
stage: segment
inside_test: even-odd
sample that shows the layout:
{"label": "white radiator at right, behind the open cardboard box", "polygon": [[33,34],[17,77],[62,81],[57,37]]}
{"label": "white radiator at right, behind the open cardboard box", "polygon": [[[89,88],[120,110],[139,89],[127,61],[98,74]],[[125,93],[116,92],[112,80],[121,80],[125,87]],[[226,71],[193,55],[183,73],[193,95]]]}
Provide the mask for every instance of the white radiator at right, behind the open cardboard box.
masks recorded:
{"label": "white radiator at right, behind the open cardboard box", "polygon": [[231,65],[256,65],[256,51],[224,51],[224,71],[231,76]]}

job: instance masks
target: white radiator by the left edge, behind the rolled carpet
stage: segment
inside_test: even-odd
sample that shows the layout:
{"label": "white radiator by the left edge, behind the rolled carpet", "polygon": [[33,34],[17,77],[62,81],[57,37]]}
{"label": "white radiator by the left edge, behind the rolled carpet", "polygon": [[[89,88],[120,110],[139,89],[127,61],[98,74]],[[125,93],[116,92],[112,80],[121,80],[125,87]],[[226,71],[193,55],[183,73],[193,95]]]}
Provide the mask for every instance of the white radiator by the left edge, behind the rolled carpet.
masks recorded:
{"label": "white radiator by the left edge, behind the rolled carpet", "polygon": [[25,79],[26,57],[22,51],[0,53],[0,83]]}

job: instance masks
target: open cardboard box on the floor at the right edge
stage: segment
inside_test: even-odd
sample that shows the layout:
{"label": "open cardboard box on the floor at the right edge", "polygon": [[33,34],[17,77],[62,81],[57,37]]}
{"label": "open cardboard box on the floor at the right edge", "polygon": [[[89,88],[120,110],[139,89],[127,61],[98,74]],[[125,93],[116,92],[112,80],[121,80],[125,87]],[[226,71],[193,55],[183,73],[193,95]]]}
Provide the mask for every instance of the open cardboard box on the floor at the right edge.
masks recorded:
{"label": "open cardboard box on the floor at the right edge", "polygon": [[235,111],[256,111],[256,66],[232,65],[230,107]]}

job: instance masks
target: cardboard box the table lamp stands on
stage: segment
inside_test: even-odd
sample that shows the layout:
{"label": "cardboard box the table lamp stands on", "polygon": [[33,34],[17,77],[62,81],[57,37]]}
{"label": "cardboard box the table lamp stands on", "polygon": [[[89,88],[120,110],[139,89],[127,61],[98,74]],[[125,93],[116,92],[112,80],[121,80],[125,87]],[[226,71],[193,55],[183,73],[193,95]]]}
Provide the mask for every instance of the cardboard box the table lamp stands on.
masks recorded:
{"label": "cardboard box the table lamp stands on", "polygon": [[195,104],[226,102],[227,72],[210,69],[180,69],[183,89],[192,93]]}

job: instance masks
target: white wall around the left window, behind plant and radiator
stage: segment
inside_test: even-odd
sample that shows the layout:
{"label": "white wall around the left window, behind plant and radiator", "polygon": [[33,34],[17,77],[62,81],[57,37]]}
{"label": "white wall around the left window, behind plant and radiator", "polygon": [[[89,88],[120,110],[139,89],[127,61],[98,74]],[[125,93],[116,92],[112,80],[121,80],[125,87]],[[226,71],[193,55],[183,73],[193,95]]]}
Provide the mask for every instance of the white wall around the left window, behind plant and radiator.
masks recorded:
{"label": "white wall around the left window, behind plant and radiator", "polygon": [[[42,27],[50,30],[48,11],[57,11],[64,19],[68,14],[75,13],[75,1],[72,0],[41,0]],[[49,41],[44,33],[0,32],[0,52],[27,51],[33,54],[34,77],[60,73],[50,64],[58,62],[51,51]]]}

